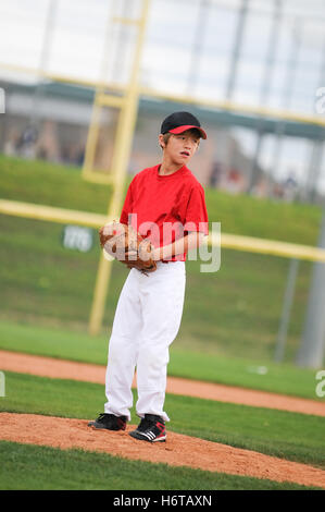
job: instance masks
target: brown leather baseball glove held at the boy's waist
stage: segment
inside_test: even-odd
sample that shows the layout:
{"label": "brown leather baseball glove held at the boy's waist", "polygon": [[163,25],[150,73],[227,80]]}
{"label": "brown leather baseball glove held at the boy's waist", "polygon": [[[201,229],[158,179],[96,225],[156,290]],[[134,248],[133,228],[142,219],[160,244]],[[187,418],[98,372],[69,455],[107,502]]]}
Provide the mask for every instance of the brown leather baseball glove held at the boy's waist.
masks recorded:
{"label": "brown leather baseball glove held at the boy's waist", "polygon": [[136,268],[142,273],[154,272],[157,264],[152,258],[153,245],[143,239],[132,225],[115,220],[99,230],[100,245],[128,268]]}

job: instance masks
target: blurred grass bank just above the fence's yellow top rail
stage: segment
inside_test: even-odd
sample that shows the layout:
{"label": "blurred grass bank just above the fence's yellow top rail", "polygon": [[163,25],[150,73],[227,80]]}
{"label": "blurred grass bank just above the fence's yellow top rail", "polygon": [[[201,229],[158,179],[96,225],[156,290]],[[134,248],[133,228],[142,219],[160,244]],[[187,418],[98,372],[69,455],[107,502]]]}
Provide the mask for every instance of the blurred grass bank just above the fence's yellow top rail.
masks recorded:
{"label": "blurred grass bank just above the fence's yellow top rail", "polygon": [[[195,171],[195,160],[191,169]],[[111,187],[83,181],[78,168],[0,155],[0,195],[5,199],[107,212]],[[322,217],[318,206],[234,196],[209,187],[205,197],[209,220],[221,222],[226,233],[316,243]]]}

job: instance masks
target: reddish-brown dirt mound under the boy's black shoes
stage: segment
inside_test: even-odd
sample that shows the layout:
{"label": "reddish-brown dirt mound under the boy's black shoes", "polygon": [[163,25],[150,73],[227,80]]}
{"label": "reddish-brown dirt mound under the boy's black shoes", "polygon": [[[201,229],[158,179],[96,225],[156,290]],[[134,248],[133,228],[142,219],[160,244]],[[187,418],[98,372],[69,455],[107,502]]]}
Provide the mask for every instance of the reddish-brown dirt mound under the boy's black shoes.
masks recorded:
{"label": "reddish-brown dirt mound under the boy's black shoes", "polygon": [[79,448],[133,460],[325,488],[325,471],[307,464],[174,432],[167,434],[166,442],[147,443],[127,435],[135,426],[114,432],[91,429],[87,423],[87,419],[1,413],[0,439],[60,449]]}

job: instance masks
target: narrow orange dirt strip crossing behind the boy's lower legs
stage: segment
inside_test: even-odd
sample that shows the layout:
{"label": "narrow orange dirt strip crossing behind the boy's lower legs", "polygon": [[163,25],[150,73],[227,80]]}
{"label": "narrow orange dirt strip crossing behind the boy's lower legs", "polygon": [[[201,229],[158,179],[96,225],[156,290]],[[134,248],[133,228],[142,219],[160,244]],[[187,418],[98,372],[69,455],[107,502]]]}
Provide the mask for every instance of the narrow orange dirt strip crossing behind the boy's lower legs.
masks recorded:
{"label": "narrow orange dirt strip crossing behind the boy's lower legs", "polygon": [[[0,351],[0,369],[41,377],[74,379],[104,385],[105,367],[72,361],[54,359],[17,352]],[[136,387],[136,381],[133,383]],[[325,403],[284,394],[236,388],[176,377],[167,378],[167,392],[220,402],[277,409],[302,414],[325,416]]]}

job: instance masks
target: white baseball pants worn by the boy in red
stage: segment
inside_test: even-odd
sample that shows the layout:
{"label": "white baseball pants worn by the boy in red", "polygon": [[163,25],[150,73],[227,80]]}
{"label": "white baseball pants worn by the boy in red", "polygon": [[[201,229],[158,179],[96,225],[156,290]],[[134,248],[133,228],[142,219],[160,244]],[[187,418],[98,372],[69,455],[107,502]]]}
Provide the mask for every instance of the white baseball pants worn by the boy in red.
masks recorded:
{"label": "white baseball pants worn by the boy in red", "polygon": [[132,382],[137,368],[139,417],[163,411],[168,346],[177,336],[184,306],[185,261],[163,264],[145,276],[132,269],[123,285],[109,343],[104,412],[130,419]]}

